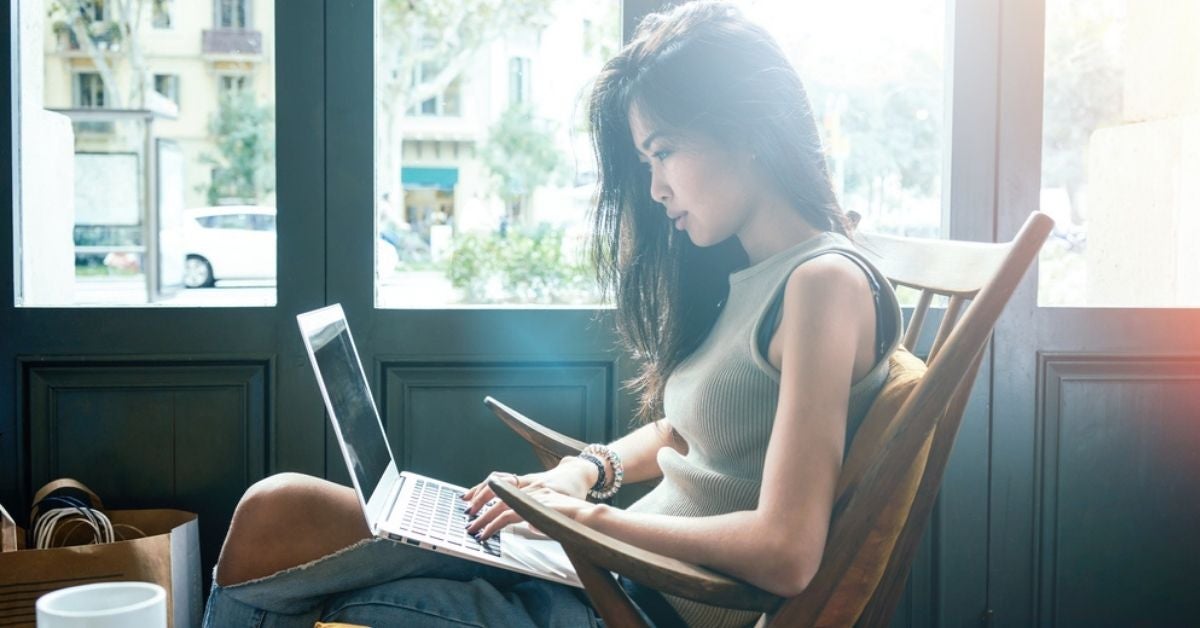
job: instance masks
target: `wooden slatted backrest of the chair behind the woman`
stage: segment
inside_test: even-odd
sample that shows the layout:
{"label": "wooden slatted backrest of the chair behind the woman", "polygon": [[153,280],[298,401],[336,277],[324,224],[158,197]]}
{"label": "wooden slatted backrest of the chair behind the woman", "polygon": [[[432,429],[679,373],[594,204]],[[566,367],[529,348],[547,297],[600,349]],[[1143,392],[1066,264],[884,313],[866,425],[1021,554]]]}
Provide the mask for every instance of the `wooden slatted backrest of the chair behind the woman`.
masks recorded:
{"label": "wooden slatted backrest of the chair behind the woman", "polygon": [[[898,352],[892,375],[851,443],[824,557],[779,626],[884,626],[904,591],[941,486],[988,339],[1052,221],[1034,213],[1006,244],[859,235],[896,286],[920,291],[902,346],[913,349],[936,295],[948,297],[928,369]],[[967,304],[970,303],[970,307]]]}

